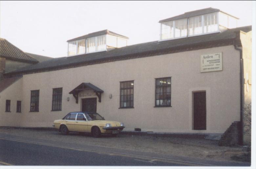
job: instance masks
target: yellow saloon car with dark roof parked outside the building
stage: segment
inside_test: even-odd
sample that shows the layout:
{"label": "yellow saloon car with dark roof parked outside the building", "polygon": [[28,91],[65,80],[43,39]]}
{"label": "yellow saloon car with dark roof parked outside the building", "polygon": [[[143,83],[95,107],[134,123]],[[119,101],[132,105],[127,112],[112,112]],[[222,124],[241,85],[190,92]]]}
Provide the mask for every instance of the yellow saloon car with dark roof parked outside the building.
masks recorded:
{"label": "yellow saloon car with dark roof parked outside the building", "polygon": [[107,121],[98,113],[89,112],[71,112],[55,120],[53,126],[63,135],[74,131],[92,133],[94,137],[100,137],[101,133],[117,135],[124,128],[122,122]]}

